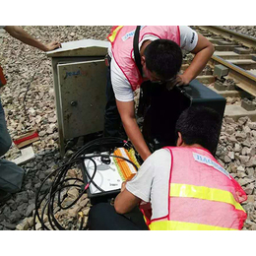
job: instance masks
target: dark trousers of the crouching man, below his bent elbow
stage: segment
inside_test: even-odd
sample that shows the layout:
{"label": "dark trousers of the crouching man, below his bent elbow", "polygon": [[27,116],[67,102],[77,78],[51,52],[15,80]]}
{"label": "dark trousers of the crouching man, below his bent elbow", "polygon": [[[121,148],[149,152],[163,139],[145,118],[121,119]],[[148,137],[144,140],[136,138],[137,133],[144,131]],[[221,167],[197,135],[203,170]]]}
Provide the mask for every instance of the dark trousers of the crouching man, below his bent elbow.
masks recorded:
{"label": "dark trousers of the crouching man, below his bent elbow", "polygon": [[119,215],[109,203],[94,205],[89,213],[90,230],[148,230],[139,208],[126,215]]}

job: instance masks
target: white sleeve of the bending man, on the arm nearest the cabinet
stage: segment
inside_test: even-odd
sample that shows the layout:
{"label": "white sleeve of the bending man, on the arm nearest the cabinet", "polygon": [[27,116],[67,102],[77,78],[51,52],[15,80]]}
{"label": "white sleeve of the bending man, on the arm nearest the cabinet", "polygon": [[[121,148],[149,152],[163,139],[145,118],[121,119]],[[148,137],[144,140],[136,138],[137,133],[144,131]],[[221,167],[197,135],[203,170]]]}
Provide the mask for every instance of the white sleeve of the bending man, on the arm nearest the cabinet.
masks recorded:
{"label": "white sleeve of the bending man, on the arm nearest the cabinet", "polygon": [[130,83],[116,64],[114,58],[111,59],[111,83],[114,96],[119,101],[133,101],[134,95]]}

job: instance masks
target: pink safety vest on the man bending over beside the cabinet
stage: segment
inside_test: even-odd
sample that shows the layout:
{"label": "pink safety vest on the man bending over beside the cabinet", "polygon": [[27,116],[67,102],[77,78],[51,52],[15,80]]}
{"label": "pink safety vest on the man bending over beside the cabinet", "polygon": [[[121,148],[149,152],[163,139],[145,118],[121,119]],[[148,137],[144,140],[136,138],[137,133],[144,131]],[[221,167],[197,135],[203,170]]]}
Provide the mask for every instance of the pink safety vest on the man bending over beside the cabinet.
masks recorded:
{"label": "pink safety vest on the man bending over beside the cabinet", "polygon": [[[116,64],[130,83],[132,90],[140,87],[143,78],[133,59],[133,38],[136,26],[115,26],[107,36],[111,42],[111,50]],[[152,34],[160,39],[169,39],[180,45],[180,32],[178,26],[142,26],[139,42],[144,35]]]}

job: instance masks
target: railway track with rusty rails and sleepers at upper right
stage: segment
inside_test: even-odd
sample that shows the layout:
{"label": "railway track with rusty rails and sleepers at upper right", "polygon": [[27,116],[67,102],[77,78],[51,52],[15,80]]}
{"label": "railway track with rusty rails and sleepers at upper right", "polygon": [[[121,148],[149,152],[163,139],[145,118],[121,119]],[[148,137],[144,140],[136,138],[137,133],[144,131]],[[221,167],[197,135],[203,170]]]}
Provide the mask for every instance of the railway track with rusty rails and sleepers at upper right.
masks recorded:
{"label": "railway track with rusty rails and sleepers at upper right", "polygon": [[[196,26],[193,29],[206,36],[215,52],[206,69],[197,77],[218,94],[228,98],[224,114],[237,120],[248,116],[256,121],[256,38],[217,26]],[[192,55],[184,59],[186,69]],[[226,86],[232,82],[232,87]],[[237,100],[230,98],[237,97]]]}

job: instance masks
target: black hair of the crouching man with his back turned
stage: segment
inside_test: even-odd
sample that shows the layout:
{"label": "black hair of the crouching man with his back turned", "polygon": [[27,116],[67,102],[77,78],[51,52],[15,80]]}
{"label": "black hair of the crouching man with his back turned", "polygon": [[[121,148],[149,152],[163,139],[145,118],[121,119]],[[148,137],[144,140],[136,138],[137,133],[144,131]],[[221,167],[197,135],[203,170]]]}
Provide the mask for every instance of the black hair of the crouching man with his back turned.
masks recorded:
{"label": "black hair of the crouching man with his back turned", "polygon": [[222,127],[221,115],[210,107],[190,106],[179,116],[175,133],[186,145],[199,144],[214,156]]}

